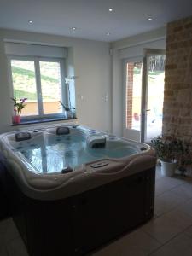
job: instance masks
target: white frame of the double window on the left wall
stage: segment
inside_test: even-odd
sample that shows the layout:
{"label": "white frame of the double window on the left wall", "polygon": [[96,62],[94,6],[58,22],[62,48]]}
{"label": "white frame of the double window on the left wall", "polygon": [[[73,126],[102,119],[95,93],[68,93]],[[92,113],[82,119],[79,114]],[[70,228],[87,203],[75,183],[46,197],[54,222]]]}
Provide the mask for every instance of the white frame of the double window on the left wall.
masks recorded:
{"label": "white frame of the double window on the left wall", "polygon": [[[38,103],[38,114],[22,116],[22,121],[34,121],[34,120],[44,120],[44,119],[64,119],[64,109],[61,113],[46,113],[44,114],[43,108],[43,98],[41,89],[41,71],[40,71],[40,61],[47,62],[59,62],[60,63],[60,73],[61,73],[61,101],[68,105],[68,90],[65,86],[66,77],[66,59],[58,57],[41,57],[32,55],[8,55],[8,66],[9,66],[9,84],[10,84],[10,96],[14,97],[14,84],[12,79],[12,68],[11,61],[33,61],[34,62],[34,72],[37,90],[37,103]],[[27,102],[26,102],[27,103]],[[61,107],[62,108],[62,107]],[[21,121],[21,123],[22,123]]]}

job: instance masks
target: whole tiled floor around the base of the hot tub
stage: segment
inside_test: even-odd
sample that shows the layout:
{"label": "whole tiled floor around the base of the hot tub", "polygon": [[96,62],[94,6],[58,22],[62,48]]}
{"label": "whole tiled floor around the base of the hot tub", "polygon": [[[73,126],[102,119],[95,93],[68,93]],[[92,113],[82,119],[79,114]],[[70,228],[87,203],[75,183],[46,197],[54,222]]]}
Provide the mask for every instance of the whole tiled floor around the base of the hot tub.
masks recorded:
{"label": "whole tiled floor around the base of the hot tub", "polygon": [[[161,177],[157,167],[154,218],[92,256],[145,255],[192,255],[192,178]],[[0,222],[0,256],[27,256],[11,218]]]}

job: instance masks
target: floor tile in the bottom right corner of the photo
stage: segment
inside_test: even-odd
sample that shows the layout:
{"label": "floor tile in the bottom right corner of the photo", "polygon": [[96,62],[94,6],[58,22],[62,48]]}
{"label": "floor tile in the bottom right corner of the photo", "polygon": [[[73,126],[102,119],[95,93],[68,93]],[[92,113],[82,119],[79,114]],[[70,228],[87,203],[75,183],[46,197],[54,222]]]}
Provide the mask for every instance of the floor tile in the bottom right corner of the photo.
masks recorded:
{"label": "floor tile in the bottom right corner of the photo", "polygon": [[191,256],[192,238],[181,234],[169,241],[165,246],[160,247],[151,256]]}

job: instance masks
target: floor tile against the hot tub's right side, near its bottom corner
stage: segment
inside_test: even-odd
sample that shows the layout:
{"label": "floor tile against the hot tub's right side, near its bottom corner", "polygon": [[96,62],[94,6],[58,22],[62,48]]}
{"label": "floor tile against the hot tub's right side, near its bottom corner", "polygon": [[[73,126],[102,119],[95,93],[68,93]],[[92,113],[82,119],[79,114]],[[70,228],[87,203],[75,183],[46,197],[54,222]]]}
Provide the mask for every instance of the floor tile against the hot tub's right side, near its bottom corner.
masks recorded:
{"label": "floor tile against the hot tub's right side, near its bottom corner", "polygon": [[172,191],[167,191],[162,195],[155,196],[154,214],[160,216],[163,213],[169,212],[172,208],[177,207],[183,203],[181,196],[175,195]]}

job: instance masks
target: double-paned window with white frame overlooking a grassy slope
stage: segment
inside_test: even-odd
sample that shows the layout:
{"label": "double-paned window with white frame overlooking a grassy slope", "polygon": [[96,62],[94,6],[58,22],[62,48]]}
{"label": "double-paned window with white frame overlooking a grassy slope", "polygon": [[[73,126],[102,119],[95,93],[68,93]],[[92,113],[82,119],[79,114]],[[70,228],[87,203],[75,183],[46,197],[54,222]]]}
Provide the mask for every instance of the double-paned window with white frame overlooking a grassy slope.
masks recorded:
{"label": "double-paned window with white frame overlooking a grassy slope", "polygon": [[23,119],[48,119],[61,116],[60,101],[67,106],[64,59],[36,56],[10,56],[13,96],[27,98]]}

